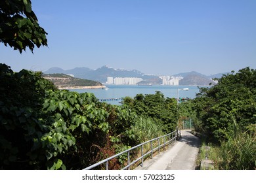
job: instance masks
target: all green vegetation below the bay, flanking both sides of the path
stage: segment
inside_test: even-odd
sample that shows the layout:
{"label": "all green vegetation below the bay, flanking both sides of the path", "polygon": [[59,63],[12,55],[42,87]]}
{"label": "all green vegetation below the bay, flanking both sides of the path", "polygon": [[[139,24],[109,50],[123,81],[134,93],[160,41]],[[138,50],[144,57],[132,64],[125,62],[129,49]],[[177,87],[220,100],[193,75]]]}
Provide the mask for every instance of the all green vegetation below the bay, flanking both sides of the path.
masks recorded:
{"label": "all green vegetation below the bay, flanking both sides of the path", "polygon": [[[0,64],[0,169],[83,169],[188,118],[217,149],[217,169],[255,169],[255,77],[249,68],[223,76],[178,110],[161,92],[109,105],[93,93],[58,90],[39,72]],[[127,156],[109,163],[120,169]]]}

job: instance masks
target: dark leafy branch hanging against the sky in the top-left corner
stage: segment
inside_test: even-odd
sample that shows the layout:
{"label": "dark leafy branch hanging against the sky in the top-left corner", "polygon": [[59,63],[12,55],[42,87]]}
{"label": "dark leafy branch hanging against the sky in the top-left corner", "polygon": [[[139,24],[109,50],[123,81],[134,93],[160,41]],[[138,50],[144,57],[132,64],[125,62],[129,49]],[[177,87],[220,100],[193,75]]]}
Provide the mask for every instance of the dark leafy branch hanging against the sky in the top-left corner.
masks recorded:
{"label": "dark leafy branch hanging against the sky in the top-left corner", "polygon": [[0,41],[19,50],[47,46],[47,32],[39,26],[30,0],[0,1]]}

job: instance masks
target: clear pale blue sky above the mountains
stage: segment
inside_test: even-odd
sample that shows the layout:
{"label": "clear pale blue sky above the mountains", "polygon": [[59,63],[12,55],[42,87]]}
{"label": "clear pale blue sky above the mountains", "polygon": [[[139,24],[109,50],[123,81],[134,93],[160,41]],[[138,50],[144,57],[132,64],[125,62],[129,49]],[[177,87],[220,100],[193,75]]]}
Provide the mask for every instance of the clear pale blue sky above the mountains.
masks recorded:
{"label": "clear pale blue sky above the mountains", "polygon": [[14,71],[103,65],[145,74],[256,69],[255,0],[32,0],[49,47],[20,54]]}

